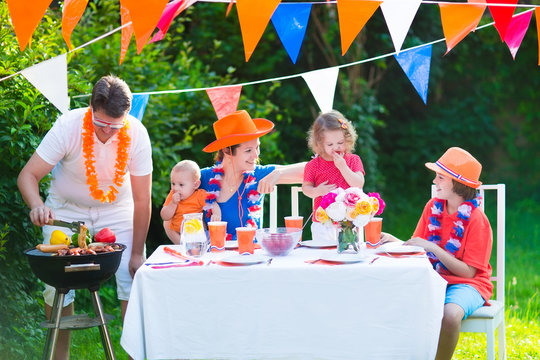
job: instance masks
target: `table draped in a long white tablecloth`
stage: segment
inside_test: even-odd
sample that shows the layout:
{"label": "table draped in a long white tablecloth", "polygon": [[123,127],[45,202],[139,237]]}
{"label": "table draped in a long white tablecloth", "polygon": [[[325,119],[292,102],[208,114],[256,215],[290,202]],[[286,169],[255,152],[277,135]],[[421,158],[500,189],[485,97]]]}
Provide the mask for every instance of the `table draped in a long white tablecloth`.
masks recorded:
{"label": "table draped in a long white tablecloth", "polygon": [[[143,265],[120,343],[135,359],[435,357],[446,281],[427,258],[304,262],[324,251],[336,250],[298,248],[271,265]],[[147,262],[171,260],[162,246]]]}

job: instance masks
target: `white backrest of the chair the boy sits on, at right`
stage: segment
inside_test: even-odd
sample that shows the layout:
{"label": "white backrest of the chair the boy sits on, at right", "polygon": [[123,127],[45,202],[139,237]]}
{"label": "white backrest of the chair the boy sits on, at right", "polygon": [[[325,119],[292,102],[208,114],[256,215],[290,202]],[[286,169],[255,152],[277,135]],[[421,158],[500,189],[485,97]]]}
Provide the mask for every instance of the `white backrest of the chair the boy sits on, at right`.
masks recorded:
{"label": "white backrest of the chair the boy sits on, at right", "polygon": [[[481,209],[484,211],[486,204],[486,191],[495,190],[497,192],[497,228],[495,230],[493,239],[497,246],[497,258],[494,275],[491,277],[491,281],[496,283],[497,293],[495,299],[501,301],[504,304],[504,259],[505,259],[505,231],[506,231],[506,185],[505,184],[493,184],[493,185],[480,185],[480,196],[482,196]],[[431,197],[435,197],[436,190],[435,185],[431,185]]]}

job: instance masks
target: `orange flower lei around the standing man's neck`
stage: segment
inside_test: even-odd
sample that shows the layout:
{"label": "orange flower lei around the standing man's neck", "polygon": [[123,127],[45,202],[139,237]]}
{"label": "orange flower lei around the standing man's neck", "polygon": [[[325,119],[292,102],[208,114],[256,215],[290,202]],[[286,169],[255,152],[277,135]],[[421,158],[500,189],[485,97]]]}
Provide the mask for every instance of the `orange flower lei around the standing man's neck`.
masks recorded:
{"label": "orange flower lei around the standing man's neck", "polygon": [[[113,184],[117,187],[121,187],[124,182],[124,175],[126,174],[126,165],[128,161],[128,149],[131,142],[131,138],[128,133],[128,125],[124,126],[118,132],[118,148],[116,150],[116,164],[114,165],[114,179]],[[88,108],[83,119],[83,155],[84,164],[86,166],[86,183],[90,189],[90,195],[96,200],[101,202],[112,203],[116,200],[116,194],[118,190],[113,185],[109,186],[109,191],[105,193],[99,188],[97,172],[94,158],[94,124],[92,123],[92,110]]]}

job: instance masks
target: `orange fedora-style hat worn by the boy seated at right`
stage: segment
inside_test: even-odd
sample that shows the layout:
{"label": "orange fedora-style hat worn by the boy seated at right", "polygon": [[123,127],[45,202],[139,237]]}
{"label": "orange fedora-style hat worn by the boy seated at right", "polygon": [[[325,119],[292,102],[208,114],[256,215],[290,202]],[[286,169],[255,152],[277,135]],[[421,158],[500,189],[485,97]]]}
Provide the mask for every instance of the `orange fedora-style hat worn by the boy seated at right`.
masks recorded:
{"label": "orange fedora-style hat worn by the boy seated at right", "polygon": [[436,173],[449,176],[469,187],[476,189],[482,182],[478,181],[482,172],[482,164],[462,148],[452,147],[435,163],[426,163],[426,167]]}

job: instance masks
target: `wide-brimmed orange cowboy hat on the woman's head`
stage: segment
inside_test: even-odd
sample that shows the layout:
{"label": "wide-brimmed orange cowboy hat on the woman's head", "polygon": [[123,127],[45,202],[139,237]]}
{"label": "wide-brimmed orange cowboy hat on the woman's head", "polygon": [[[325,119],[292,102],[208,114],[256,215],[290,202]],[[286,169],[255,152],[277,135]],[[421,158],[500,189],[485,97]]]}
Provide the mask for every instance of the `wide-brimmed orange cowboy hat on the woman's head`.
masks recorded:
{"label": "wide-brimmed orange cowboy hat on the woman's head", "polygon": [[217,140],[208,144],[203,151],[214,152],[257,139],[272,131],[273,128],[274,123],[270,120],[251,119],[247,111],[235,111],[214,123]]}

